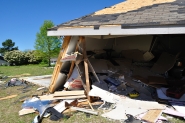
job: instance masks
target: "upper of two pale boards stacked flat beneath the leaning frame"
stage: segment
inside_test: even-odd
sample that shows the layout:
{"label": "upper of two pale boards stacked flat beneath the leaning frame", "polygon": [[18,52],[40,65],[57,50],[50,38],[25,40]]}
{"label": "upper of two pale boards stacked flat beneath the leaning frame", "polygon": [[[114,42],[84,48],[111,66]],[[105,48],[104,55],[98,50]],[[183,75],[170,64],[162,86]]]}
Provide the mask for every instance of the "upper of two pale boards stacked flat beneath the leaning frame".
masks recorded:
{"label": "upper of two pale boards stacked flat beneath the leaning frame", "polygon": [[62,97],[62,96],[82,96],[84,95],[84,90],[80,91],[56,91],[53,96],[54,97]]}

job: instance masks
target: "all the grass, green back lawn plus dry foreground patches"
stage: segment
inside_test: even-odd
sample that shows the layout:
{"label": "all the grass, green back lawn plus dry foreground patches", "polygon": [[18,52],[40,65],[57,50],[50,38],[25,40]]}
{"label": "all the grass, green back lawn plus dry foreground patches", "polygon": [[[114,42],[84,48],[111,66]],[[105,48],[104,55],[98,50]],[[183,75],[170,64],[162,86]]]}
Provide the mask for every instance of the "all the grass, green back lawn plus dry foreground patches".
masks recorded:
{"label": "all the grass, green back lawn plus dry foreground patches", "polygon": [[[52,74],[53,69],[45,67],[44,65],[25,65],[25,66],[0,66],[0,76],[8,76],[4,79],[9,81],[12,77],[22,76],[37,76],[37,75],[48,75]],[[22,97],[31,97],[31,95],[40,95],[43,90],[36,91],[39,88],[37,85],[29,84],[29,88],[23,93],[23,86],[14,86],[5,88],[5,83],[0,83],[0,98],[10,95],[17,94],[17,97],[0,100],[0,123],[31,123],[34,117],[38,114],[29,114],[19,116],[18,112],[22,109],[20,102]],[[68,116],[71,116],[68,118]],[[108,120],[101,116],[90,115],[86,117],[85,113],[76,112],[69,113],[67,116],[62,118],[60,123],[115,123],[115,121]],[[51,121],[49,118],[44,118],[42,123],[56,123]]]}

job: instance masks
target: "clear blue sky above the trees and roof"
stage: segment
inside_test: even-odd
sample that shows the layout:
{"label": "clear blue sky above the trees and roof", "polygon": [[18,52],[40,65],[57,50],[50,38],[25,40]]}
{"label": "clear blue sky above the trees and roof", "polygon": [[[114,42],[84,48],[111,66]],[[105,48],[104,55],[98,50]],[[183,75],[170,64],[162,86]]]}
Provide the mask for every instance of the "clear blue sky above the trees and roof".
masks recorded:
{"label": "clear blue sky above the trees and roof", "polygon": [[12,39],[19,50],[33,50],[44,20],[55,25],[124,0],[0,0],[0,47]]}

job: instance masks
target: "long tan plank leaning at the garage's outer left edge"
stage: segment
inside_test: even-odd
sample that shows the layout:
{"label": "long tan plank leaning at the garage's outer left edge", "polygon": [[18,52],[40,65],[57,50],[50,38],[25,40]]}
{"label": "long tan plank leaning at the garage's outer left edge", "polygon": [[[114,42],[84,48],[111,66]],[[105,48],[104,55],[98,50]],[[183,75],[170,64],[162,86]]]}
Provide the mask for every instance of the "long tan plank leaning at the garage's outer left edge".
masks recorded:
{"label": "long tan plank leaning at the garage's outer left edge", "polygon": [[61,58],[63,58],[65,56],[65,53],[66,53],[66,50],[67,50],[67,46],[68,46],[68,44],[70,42],[70,39],[71,39],[71,36],[65,36],[65,38],[64,38],[62,47],[60,49],[60,53],[58,55],[57,62],[55,64],[53,75],[52,75],[52,78],[51,78],[51,83],[50,83],[50,86],[49,86],[49,92],[50,93],[53,93],[55,91],[54,90],[55,82],[56,82],[56,80],[58,78],[60,69],[62,67],[62,62],[60,62],[60,60],[61,60]]}

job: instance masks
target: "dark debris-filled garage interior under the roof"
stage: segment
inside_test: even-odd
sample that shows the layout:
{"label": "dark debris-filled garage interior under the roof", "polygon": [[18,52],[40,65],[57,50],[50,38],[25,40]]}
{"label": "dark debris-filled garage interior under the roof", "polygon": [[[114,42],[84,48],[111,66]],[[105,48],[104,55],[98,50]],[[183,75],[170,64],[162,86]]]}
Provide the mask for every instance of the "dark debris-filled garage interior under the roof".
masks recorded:
{"label": "dark debris-filled garage interior under the roof", "polygon": [[[184,39],[185,35],[85,37],[87,58],[100,78],[100,81],[106,81],[107,90],[113,88],[111,91],[118,91],[117,88],[118,85],[121,85],[121,82],[119,84],[112,84],[107,82],[106,77],[111,77],[117,81],[119,80],[119,76],[122,75],[124,76],[124,82],[127,82],[125,86],[133,87],[140,94],[143,93],[148,96],[151,96],[155,92],[155,89],[161,87],[184,90],[182,89],[185,84]],[[79,37],[73,36],[71,38],[72,41],[72,44],[75,45],[74,41],[79,41]],[[79,44],[80,48],[82,46]],[[74,51],[68,51],[65,56],[69,56],[72,53]],[[57,88],[54,90],[51,89],[51,92],[61,88],[63,89],[67,78],[70,77],[68,74],[71,62],[68,61],[63,64],[66,64],[63,65],[66,67],[63,67],[60,72],[65,74],[66,77],[62,79],[63,82],[59,82],[58,80],[56,83],[60,84],[54,84]],[[80,65],[84,67],[83,63]],[[91,84],[97,81],[90,68],[89,80]],[[129,92],[125,93],[128,94]]]}

